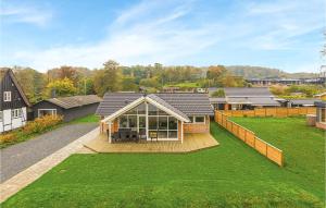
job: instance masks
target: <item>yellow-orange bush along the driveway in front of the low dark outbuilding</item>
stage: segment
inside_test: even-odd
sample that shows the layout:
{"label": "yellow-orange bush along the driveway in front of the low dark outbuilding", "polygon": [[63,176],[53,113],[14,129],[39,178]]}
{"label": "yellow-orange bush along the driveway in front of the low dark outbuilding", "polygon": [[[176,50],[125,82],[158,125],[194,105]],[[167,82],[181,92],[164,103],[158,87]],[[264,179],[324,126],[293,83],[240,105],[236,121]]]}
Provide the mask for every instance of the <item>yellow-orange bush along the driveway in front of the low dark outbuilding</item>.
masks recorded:
{"label": "yellow-orange bush along the driveway in front of the low dark outbuilding", "polygon": [[62,117],[57,115],[45,115],[41,118],[37,118],[36,120],[28,122],[23,127],[24,134],[35,134],[35,133],[42,133],[55,125],[58,125],[62,121]]}

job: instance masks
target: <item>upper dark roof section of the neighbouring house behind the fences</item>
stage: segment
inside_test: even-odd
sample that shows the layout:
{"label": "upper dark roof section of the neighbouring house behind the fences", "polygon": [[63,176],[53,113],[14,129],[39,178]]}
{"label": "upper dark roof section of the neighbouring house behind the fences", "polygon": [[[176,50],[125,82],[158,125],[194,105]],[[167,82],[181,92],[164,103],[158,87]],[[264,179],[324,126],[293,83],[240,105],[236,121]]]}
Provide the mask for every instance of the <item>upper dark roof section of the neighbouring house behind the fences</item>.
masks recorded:
{"label": "upper dark roof section of the neighbouring house behind the fences", "polygon": [[267,87],[225,87],[225,97],[272,97]]}

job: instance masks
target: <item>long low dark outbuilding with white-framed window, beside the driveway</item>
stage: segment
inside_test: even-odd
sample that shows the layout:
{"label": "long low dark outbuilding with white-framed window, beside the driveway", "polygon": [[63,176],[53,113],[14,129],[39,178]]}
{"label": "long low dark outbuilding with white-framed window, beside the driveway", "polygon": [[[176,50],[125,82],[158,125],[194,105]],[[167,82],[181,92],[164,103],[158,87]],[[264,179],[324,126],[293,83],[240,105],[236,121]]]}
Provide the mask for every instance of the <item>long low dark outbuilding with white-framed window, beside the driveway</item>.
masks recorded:
{"label": "long low dark outbuilding with white-framed window, beside the driveway", "polygon": [[63,115],[63,121],[93,114],[102,99],[97,95],[58,97],[42,100],[33,106],[34,118],[46,114]]}

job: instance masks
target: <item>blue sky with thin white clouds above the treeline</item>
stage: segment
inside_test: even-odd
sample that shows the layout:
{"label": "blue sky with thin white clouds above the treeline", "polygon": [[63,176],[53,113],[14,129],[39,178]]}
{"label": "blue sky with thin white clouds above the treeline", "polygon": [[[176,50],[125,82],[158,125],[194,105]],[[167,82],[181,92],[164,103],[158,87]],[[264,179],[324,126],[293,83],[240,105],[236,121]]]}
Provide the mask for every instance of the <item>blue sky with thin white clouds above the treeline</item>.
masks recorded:
{"label": "blue sky with thin white clouds above the treeline", "polygon": [[0,0],[0,65],[262,65],[318,72],[324,0]]}

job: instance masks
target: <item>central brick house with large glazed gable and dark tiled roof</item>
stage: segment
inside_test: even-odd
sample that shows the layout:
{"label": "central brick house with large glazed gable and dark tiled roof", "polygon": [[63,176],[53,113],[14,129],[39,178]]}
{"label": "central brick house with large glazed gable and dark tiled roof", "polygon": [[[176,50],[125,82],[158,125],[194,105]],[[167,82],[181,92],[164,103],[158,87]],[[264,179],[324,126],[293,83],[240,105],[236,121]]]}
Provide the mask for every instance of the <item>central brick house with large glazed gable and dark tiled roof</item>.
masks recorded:
{"label": "central brick house with large glazed gable and dark tiled roof", "polygon": [[102,118],[101,132],[109,142],[118,131],[137,132],[150,140],[184,140],[185,133],[210,133],[213,109],[206,94],[108,93],[97,114]]}

